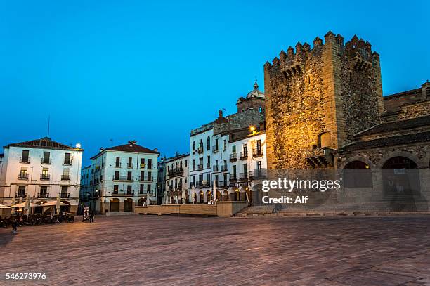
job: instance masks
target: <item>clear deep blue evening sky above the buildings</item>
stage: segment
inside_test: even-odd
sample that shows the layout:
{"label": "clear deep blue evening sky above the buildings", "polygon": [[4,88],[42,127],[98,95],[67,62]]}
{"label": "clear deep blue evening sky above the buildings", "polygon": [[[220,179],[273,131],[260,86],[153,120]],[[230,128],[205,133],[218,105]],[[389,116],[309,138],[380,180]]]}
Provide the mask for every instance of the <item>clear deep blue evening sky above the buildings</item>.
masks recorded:
{"label": "clear deep blue evening sky above the buildings", "polygon": [[[190,129],[263,90],[263,64],[328,30],[381,55],[384,95],[429,79],[425,1],[0,1],[0,144],[135,139],[188,151]],[[112,141],[110,141],[112,139]]]}

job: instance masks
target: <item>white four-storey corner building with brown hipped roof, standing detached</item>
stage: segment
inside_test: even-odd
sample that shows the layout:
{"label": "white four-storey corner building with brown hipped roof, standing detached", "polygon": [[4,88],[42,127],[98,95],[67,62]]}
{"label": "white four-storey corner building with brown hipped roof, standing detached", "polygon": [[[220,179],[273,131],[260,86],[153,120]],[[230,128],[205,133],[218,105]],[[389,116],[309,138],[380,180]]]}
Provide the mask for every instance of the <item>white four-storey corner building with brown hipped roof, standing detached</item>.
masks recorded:
{"label": "white four-storey corner building with brown hipped roof, standing detached", "polygon": [[133,212],[136,205],[156,204],[158,156],[157,150],[136,141],[100,149],[91,157],[93,210],[100,214]]}

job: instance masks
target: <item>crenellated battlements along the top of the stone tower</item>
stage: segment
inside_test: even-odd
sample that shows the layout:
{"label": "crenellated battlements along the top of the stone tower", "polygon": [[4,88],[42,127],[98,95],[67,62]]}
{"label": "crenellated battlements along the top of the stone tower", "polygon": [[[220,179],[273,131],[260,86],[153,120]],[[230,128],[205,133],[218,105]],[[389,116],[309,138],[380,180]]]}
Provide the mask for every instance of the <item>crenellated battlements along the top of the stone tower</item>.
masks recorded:
{"label": "crenellated battlements along the top of the stone tower", "polygon": [[272,63],[266,62],[265,70],[282,71],[289,69],[291,66],[303,63],[310,57],[319,56],[322,50],[328,48],[337,48],[348,60],[351,60],[351,68],[363,69],[373,65],[374,61],[379,62],[379,54],[372,52],[372,45],[368,41],[359,39],[354,35],[350,41],[344,44],[344,37],[341,34],[335,35],[329,31],[323,39],[315,37],[313,46],[308,43],[301,44],[297,42],[294,46],[289,46],[287,52],[280,51],[278,57],[273,58]]}

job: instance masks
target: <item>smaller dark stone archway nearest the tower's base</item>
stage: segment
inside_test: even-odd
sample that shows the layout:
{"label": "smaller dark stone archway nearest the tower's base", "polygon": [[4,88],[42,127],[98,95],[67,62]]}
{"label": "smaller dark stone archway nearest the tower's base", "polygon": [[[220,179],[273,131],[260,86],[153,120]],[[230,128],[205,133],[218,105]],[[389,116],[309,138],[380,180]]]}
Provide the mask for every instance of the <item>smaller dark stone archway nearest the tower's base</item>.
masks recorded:
{"label": "smaller dark stone archway nearest the tower's base", "polygon": [[344,167],[345,188],[372,188],[372,170],[365,162],[354,160]]}

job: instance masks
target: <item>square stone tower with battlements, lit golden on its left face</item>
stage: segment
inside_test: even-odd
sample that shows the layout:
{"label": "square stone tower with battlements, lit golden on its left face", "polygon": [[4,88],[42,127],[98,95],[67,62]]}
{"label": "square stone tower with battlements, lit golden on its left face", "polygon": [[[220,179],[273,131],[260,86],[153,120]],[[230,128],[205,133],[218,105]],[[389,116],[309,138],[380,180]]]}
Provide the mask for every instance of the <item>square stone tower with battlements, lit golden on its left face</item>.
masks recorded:
{"label": "square stone tower with battlements, lit golden on its left face", "polygon": [[[331,168],[332,151],[379,123],[379,55],[340,34],[296,44],[264,65],[269,169]],[[331,160],[330,160],[331,157]]]}

